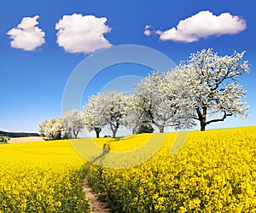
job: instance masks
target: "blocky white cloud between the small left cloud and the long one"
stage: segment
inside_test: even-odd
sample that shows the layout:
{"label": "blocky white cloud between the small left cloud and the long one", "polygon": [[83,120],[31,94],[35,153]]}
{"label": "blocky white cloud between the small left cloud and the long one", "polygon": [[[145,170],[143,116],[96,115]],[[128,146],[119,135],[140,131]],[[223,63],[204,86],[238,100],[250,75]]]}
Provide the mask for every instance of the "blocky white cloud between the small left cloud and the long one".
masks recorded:
{"label": "blocky white cloud between the small left cloud and the long one", "polygon": [[111,31],[105,23],[107,18],[94,15],[64,15],[55,24],[57,43],[69,53],[93,53],[112,44],[103,36]]}

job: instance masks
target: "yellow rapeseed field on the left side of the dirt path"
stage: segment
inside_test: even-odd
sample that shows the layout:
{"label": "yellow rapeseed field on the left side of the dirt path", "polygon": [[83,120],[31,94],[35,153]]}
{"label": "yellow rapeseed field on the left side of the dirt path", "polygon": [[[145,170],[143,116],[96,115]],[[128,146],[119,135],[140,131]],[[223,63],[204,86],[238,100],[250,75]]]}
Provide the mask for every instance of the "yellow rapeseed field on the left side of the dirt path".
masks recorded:
{"label": "yellow rapeseed field on the left side of the dirt path", "polygon": [[0,145],[0,212],[88,212],[83,168],[68,141]]}

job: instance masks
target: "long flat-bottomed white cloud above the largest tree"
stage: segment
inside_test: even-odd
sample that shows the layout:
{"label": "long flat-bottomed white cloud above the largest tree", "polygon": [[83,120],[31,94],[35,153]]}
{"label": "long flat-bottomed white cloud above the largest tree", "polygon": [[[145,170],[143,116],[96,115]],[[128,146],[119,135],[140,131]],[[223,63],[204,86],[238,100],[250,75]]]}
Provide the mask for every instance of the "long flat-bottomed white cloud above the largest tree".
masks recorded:
{"label": "long flat-bottomed white cloud above the largest tree", "polygon": [[223,13],[214,15],[210,11],[201,11],[191,17],[180,20],[176,27],[165,32],[156,31],[160,40],[192,43],[201,37],[236,34],[247,28],[246,21],[237,15]]}

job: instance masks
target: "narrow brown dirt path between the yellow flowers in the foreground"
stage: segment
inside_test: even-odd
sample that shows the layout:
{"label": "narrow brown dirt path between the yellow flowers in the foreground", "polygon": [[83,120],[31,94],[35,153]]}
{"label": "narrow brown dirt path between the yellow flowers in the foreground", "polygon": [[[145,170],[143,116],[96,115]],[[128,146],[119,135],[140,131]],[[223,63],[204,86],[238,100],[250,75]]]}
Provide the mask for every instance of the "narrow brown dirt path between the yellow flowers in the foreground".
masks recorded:
{"label": "narrow brown dirt path between the yellow flowers in the foreground", "polygon": [[92,188],[89,186],[88,177],[86,176],[84,179],[84,192],[87,199],[90,201],[90,210],[95,213],[110,213],[111,211],[108,209],[107,204],[101,202],[96,193],[93,193]]}

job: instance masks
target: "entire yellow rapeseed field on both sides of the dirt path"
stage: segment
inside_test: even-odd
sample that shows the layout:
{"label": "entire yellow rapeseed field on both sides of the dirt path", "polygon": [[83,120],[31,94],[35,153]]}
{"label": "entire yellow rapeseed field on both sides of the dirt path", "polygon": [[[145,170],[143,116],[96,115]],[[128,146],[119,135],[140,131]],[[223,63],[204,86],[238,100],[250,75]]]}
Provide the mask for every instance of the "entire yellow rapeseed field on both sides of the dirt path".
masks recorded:
{"label": "entire yellow rapeseed field on both sides of the dirt path", "polygon": [[[110,145],[102,157],[108,158],[113,151],[140,150],[149,138],[166,137],[159,152],[134,167],[91,164],[90,184],[114,212],[256,212],[256,127],[190,132],[172,155],[176,136],[94,139]],[[141,156],[128,161],[133,164],[134,158]],[[0,212],[88,212],[84,164],[68,141],[0,145]]]}

